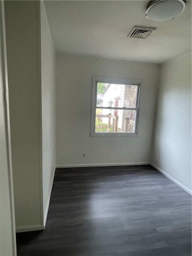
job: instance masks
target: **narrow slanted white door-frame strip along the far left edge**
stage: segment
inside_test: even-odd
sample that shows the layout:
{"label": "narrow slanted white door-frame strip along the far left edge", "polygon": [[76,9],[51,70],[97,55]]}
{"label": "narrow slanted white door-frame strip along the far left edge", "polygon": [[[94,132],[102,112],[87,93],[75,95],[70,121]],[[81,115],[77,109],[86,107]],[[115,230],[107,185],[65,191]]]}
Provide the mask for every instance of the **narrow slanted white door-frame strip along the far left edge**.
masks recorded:
{"label": "narrow slanted white door-frame strip along the far left edge", "polygon": [[11,160],[11,135],[10,135],[10,119],[9,119],[9,94],[8,94],[8,77],[7,77],[7,50],[6,50],[6,34],[5,34],[5,13],[4,1],[0,3],[1,13],[1,49],[2,49],[2,73],[3,73],[3,91],[5,93],[6,103],[6,140],[7,140],[7,156],[8,156],[8,175],[9,175],[9,193],[10,193],[10,208],[11,208],[11,222],[12,222],[12,244],[13,256],[17,255],[16,252],[16,236],[15,236],[15,208],[14,208],[14,194],[13,194],[13,174],[12,174],[12,160]]}

